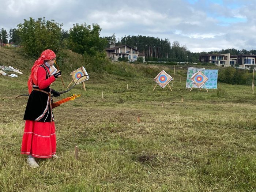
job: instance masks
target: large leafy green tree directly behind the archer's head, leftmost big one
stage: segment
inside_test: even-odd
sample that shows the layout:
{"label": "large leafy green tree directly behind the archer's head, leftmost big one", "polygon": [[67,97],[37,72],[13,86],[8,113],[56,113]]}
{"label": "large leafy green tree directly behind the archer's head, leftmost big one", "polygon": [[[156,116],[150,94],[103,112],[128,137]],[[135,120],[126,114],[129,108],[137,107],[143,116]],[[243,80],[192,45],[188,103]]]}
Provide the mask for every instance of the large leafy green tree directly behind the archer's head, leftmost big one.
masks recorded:
{"label": "large leafy green tree directly behind the archer's head, leftmost big one", "polygon": [[18,25],[21,45],[31,56],[38,56],[45,49],[57,52],[61,45],[61,26],[63,24],[45,18],[39,18],[37,21],[33,18],[24,19],[24,23]]}

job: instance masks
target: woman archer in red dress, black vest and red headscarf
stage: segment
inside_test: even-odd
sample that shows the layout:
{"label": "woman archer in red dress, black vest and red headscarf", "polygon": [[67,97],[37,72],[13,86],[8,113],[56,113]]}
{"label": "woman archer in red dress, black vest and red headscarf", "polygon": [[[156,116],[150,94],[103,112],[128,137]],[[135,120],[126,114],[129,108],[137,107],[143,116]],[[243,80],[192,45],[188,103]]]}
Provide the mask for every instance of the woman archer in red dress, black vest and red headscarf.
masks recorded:
{"label": "woman archer in red dress, black vest and red headscarf", "polygon": [[56,60],[55,53],[47,49],[35,61],[27,82],[29,100],[25,110],[25,129],[22,139],[21,154],[27,154],[30,167],[38,167],[35,158],[57,157],[54,117],[50,95],[60,96],[50,88],[50,84],[61,76],[58,71],[50,76],[49,68]]}

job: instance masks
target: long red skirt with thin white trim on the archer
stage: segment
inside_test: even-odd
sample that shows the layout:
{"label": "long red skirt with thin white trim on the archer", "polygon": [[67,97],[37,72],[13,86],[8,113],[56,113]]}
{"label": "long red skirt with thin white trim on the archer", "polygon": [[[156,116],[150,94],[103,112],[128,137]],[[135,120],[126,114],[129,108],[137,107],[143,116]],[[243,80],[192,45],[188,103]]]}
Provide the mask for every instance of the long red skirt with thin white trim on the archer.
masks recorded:
{"label": "long red skirt with thin white trim on the archer", "polygon": [[52,157],[56,153],[54,122],[26,120],[20,153],[36,158]]}

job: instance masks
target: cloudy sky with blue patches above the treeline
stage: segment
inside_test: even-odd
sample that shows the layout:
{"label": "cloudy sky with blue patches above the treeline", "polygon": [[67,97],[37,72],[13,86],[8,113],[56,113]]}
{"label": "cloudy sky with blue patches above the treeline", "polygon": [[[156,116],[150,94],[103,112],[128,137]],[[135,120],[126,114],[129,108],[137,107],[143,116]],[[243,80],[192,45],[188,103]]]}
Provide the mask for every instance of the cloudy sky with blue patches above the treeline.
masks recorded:
{"label": "cloudy sky with blue patches above the treeline", "polygon": [[146,35],[179,41],[191,52],[256,49],[256,0],[0,0],[0,28],[30,17],[97,23],[100,36]]}

